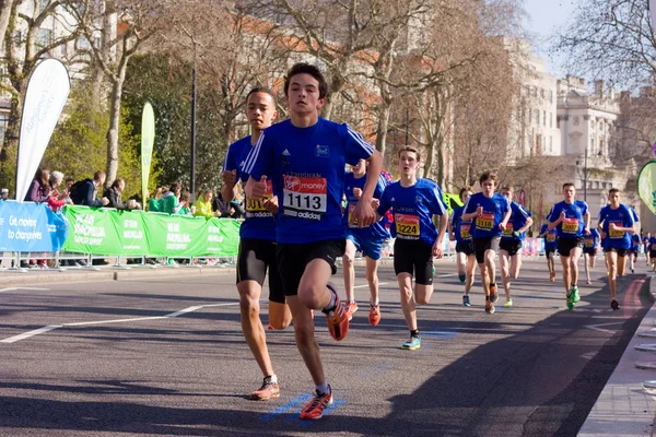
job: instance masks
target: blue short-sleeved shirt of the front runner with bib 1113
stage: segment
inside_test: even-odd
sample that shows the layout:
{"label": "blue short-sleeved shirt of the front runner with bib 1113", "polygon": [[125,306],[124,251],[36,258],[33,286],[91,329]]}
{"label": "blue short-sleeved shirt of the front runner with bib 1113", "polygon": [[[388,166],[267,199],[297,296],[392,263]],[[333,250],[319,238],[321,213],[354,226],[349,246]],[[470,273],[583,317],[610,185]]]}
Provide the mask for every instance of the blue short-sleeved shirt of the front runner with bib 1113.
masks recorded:
{"label": "blue short-sleeved shirt of the front runner with bib 1113", "polygon": [[308,128],[285,120],[265,129],[243,170],[273,182],[278,243],[342,239],[344,166],[367,160],[374,149],[347,125],[324,118]]}

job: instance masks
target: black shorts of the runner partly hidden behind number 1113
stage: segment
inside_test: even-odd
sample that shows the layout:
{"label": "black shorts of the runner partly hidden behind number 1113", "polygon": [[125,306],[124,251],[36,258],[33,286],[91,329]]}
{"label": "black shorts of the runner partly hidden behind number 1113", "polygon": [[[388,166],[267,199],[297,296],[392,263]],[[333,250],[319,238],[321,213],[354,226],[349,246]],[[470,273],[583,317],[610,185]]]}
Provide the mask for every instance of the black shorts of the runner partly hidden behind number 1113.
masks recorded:
{"label": "black shorts of the runner partly hidden behind number 1113", "polygon": [[276,261],[276,243],[242,238],[237,256],[237,284],[242,281],[255,281],[261,286],[267,270],[269,270],[269,300],[284,304],[284,291]]}

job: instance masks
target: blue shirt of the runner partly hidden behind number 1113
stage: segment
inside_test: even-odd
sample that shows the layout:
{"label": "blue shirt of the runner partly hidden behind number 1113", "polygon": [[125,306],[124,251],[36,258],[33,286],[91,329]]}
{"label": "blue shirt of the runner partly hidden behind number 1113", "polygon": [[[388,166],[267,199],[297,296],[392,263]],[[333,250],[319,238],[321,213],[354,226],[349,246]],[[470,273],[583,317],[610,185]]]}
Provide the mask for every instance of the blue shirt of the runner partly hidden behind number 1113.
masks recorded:
{"label": "blue shirt of the runner partly hidden behind number 1113", "polygon": [[[243,170],[243,165],[250,153],[250,135],[235,141],[227,149],[223,170],[237,170],[237,181],[246,185],[248,173]],[[267,199],[273,197],[273,187],[270,180],[267,180],[267,194],[261,201],[246,198],[246,213],[244,223],[239,227],[239,238],[258,238],[269,241],[276,241],[276,221],[273,214],[263,206]]]}

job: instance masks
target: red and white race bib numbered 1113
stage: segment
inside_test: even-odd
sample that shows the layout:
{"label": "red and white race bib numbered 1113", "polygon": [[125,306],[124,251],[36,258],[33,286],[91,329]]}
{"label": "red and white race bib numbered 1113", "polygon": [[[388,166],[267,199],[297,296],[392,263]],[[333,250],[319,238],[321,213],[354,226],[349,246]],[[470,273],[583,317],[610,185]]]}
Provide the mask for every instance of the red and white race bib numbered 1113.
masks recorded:
{"label": "red and white race bib numbered 1113", "polygon": [[284,215],[319,221],[326,215],[328,184],[325,178],[283,175]]}

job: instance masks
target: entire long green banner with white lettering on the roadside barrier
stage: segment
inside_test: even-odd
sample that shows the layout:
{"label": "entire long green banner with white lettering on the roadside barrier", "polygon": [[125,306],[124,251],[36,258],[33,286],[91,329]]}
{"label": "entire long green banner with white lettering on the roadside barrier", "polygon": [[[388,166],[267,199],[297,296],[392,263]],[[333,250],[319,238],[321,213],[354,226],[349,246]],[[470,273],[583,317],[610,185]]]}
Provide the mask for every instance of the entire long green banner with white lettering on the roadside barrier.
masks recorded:
{"label": "entire long green banner with white lettering on the roadside barrier", "polygon": [[62,250],[152,257],[235,257],[236,220],[67,206],[70,231]]}

